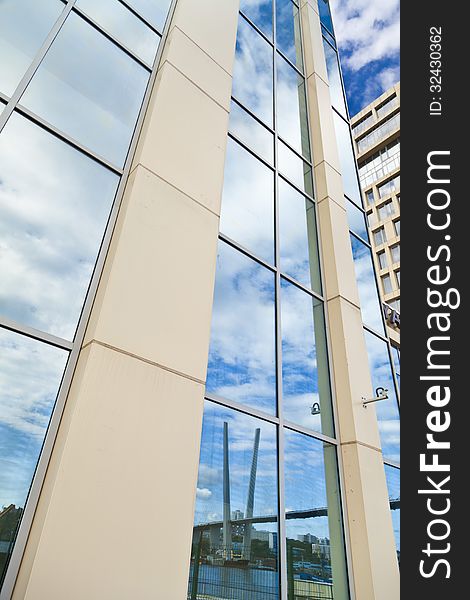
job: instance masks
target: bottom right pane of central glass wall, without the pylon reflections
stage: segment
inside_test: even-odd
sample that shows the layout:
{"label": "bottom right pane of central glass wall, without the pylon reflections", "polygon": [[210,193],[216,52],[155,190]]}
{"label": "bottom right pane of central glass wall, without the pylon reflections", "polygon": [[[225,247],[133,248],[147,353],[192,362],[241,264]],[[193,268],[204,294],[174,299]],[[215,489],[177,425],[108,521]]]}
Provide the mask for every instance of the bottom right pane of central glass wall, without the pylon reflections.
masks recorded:
{"label": "bottom right pane of central glass wall, without the pylon reflections", "polygon": [[349,598],[336,449],[285,430],[289,600]]}

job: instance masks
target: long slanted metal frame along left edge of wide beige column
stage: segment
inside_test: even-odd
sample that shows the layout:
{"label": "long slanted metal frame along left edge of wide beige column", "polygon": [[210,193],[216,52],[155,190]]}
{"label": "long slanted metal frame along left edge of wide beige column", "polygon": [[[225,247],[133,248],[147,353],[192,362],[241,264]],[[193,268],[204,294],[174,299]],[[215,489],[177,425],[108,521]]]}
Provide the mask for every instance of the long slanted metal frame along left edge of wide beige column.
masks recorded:
{"label": "long slanted metal frame along left edge of wide beige column", "polygon": [[[169,30],[170,22],[172,16],[175,11],[177,0],[172,0],[171,7],[168,11],[167,20],[165,24],[165,28],[163,31],[162,42],[166,38],[166,35]],[[70,0],[70,9],[71,5],[75,2],[75,0]],[[69,6],[69,5],[68,5]],[[67,14],[70,12],[67,12]],[[64,19],[65,20],[65,19]],[[60,27],[57,29],[57,31]],[[56,34],[57,35],[57,31]],[[55,37],[55,36],[54,36]],[[53,39],[53,38],[52,38]],[[52,40],[51,40],[52,41]],[[85,337],[85,331],[88,324],[88,320],[90,318],[91,309],[93,307],[93,303],[95,300],[96,292],[98,289],[98,284],[101,279],[101,275],[103,272],[104,263],[106,260],[106,256],[110,247],[111,238],[114,232],[114,228],[116,226],[117,217],[119,213],[119,209],[122,203],[122,198],[124,195],[124,190],[127,185],[127,179],[131,171],[132,159],[134,153],[137,148],[137,143],[139,139],[140,132],[142,131],[143,121],[145,119],[145,115],[150,103],[150,95],[152,93],[153,84],[157,77],[157,67],[160,63],[161,56],[163,53],[164,43],[160,43],[157,54],[155,56],[153,70],[150,75],[149,82],[147,84],[147,88],[144,93],[144,97],[142,100],[141,108],[139,111],[139,116],[137,119],[137,123],[133,132],[131,144],[129,147],[129,151],[126,157],[123,176],[121,177],[120,183],[118,185],[118,189],[116,191],[116,196],[114,198],[114,203],[110,211],[110,216],[108,219],[107,227],[105,234],[103,236],[103,240],[101,243],[100,251],[98,254],[98,258],[95,263],[95,268],[93,271],[93,275],[91,277],[90,285],[88,288],[87,296],[85,298],[85,302],[83,304],[82,312],[80,315],[80,320],[78,323],[77,331],[75,333],[75,341],[72,347],[72,350],[69,355],[69,359],[67,361],[67,366],[64,371],[64,375],[62,377],[62,381],[59,387],[59,391],[57,394],[55,406],[53,413],[51,415],[49,426],[47,430],[47,435],[45,436],[44,443],[41,449],[41,454],[39,456],[38,463],[36,465],[34,477],[31,483],[31,487],[29,489],[28,497],[25,502],[23,516],[21,518],[20,526],[18,528],[18,533],[16,536],[15,544],[13,547],[13,552],[10,557],[10,561],[7,567],[7,571],[5,573],[5,577],[3,580],[2,588],[0,590],[0,600],[10,600],[11,593],[13,591],[18,570],[21,564],[21,560],[23,558],[23,553],[26,547],[26,542],[29,536],[29,532],[31,529],[31,525],[33,522],[34,514],[36,511],[36,507],[39,501],[39,496],[42,489],[42,484],[44,482],[44,477],[46,474],[46,470],[49,464],[49,460],[52,454],[52,449],[55,444],[57,432],[59,429],[59,425],[62,419],[62,415],[65,408],[65,403],[67,399],[67,395],[69,393],[70,384],[72,381],[73,374],[75,372],[75,368],[78,362],[78,356],[81,351],[81,347],[83,344],[83,340]],[[39,63],[38,63],[39,64]],[[36,67],[37,68],[37,67]]]}

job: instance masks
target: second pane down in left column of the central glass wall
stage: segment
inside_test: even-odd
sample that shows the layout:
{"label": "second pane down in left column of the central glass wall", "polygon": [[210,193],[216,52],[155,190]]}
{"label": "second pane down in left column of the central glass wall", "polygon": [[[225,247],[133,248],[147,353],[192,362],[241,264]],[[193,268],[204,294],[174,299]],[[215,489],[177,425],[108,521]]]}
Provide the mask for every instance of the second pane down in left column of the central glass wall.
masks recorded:
{"label": "second pane down in left column of the central glass wall", "polygon": [[243,17],[238,20],[232,94],[273,126],[273,49]]}

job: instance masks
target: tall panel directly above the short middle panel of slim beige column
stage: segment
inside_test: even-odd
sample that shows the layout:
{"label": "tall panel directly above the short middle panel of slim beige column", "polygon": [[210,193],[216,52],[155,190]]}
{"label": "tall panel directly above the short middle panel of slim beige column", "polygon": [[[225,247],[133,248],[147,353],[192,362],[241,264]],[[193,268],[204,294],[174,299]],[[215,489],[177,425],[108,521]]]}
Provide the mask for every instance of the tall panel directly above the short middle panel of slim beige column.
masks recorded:
{"label": "tall panel directly above the short middle panel of slim beige column", "polygon": [[307,78],[314,166],[323,161],[341,173],[329,86],[317,74]]}

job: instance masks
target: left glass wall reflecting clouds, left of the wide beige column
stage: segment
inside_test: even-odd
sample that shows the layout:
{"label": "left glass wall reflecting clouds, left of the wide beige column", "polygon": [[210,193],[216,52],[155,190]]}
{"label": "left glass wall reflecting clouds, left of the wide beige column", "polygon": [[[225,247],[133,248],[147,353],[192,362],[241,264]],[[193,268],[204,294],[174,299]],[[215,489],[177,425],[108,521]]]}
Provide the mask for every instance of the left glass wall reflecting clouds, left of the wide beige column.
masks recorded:
{"label": "left glass wall reflecting clouds, left of the wide beige column", "polygon": [[0,3],[0,586],[170,2]]}

